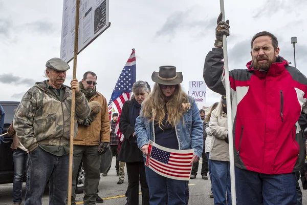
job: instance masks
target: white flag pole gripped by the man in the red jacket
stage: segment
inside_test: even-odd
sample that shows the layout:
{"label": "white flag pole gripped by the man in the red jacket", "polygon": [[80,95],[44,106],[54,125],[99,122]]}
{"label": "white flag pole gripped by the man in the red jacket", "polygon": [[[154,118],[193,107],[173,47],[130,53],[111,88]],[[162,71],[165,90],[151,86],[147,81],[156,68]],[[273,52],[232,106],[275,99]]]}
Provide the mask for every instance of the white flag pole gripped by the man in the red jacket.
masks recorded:
{"label": "white flag pole gripped by the man in the red jacket", "polygon": [[[224,0],[220,0],[221,12],[223,13],[222,20],[225,21]],[[228,141],[229,141],[229,161],[230,161],[230,180],[231,180],[231,201],[236,204],[235,192],[235,175],[234,175],[234,155],[233,155],[233,136],[232,136],[232,114],[231,114],[231,99],[230,99],[230,81],[228,69],[228,53],[227,53],[227,39],[223,35],[223,54],[224,54],[224,70],[226,83],[226,101],[227,101],[227,124],[228,124]]]}

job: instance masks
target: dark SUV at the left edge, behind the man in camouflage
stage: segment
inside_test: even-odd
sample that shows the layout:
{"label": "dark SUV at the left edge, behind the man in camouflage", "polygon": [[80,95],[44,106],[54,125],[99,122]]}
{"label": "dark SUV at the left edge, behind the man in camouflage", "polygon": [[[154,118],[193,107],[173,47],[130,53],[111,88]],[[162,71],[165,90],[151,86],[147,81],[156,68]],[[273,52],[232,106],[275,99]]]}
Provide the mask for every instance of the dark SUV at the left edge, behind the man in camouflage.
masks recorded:
{"label": "dark SUV at the left edge, behind the man in camouflage", "polygon": [[[0,105],[5,112],[3,134],[7,132],[14,118],[19,102],[16,101],[0,101]],[[0,144],[0,185],[3,183],[13,183],[14,163],[13,151],[11,149],[13,138],[4,135],[4,140]]]}

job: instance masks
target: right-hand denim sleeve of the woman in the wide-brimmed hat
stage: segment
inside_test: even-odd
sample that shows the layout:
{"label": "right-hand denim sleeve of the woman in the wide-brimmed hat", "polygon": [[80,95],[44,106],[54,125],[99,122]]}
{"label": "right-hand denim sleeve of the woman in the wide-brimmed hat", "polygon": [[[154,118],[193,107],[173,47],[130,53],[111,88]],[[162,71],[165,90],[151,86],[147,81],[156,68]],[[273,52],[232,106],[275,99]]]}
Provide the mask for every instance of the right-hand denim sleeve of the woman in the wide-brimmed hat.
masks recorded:
{"label": "right-hand denim sleeve of the woman in the wide-brimmed hat", "polygon": [[200,116],[199,109],[192,101],[192,126],[191,126],[191,147],[194,149],[194,154],[201,157],[203,153],[203,121]]}

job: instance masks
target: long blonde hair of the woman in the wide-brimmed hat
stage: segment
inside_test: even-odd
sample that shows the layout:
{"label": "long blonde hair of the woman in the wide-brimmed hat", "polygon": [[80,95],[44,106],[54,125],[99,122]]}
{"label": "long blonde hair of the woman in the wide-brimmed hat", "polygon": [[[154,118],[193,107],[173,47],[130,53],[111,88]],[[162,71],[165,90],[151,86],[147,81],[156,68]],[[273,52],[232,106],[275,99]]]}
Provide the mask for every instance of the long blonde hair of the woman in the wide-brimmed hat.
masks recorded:
{"label": "long blonde hair of the woman in the wide-brimmed hat", "polygon": [[149,118],[149,121],[152,121],[152,119],[158,121],[158,125],[162,129],[162,126],[164,126],[163,120],[167,111],[168,117],[166,123],[174,127],[183,118],[183,114],[186,111],[184,108],[185,103],[189,103],[189,96],[183,92],[179,84],[165,105],[162,90],[159,84],[156,83],[151,93],[143,102],[142,114],[144,117]]}

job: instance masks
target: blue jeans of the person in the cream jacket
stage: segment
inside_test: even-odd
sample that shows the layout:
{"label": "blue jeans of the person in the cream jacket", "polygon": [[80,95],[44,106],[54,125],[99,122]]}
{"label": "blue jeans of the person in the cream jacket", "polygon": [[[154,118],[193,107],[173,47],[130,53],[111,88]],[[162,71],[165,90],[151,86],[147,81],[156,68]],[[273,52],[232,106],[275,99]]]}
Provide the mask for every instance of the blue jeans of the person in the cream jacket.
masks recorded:
{"label": "blue jeans of the person in the cream jacket", "polygon": [[[231,183],[229,161],[211,160],[214,205],[231,205]],[[227,195],[227,197],[226,197]],[[240,203],[238,203],[240,204]],[[248,203],[242,203],[245,205]]]}

